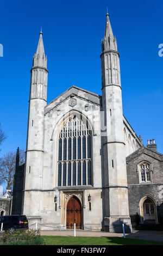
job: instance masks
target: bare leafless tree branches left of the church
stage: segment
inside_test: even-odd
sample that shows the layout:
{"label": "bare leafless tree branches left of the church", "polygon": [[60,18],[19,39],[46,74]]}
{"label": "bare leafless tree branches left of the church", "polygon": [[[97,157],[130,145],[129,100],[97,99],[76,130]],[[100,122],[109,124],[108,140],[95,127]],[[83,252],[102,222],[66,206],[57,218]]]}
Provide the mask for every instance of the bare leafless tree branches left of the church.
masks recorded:
{"label": "bare leafless tree branches left of the church", "polygon": [[[24,150],[20,149],[20,165],[24,163]],[[16,166],[16,151],[9,151],[0,158],[0,185],[7,184],[7,190],[12,190]]]}

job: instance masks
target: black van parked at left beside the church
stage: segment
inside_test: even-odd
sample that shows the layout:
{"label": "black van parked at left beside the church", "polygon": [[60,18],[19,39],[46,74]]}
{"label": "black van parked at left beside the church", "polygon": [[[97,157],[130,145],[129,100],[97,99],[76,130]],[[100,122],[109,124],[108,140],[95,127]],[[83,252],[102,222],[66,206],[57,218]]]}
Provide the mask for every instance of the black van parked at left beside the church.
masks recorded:
{"label": "black van parked at left beside the church", "polygon": [[28,220],[26,215],[5,215],[0,217],[0,229],[3,223],[3,230],[9,230],[13,233],[15,230],[28,229]]}

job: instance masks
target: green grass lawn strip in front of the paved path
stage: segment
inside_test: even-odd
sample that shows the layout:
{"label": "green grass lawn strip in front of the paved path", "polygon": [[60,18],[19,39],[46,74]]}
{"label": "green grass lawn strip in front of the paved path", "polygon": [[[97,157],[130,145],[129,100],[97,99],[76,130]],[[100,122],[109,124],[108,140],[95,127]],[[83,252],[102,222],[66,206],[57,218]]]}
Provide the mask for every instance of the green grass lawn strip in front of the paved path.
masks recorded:
{"label": "green grass lawn strip in front of the paved path", "polygon": [[41,236],[45,245],[163,245],[163,242],[123,237]]}

